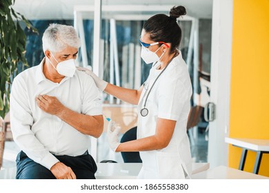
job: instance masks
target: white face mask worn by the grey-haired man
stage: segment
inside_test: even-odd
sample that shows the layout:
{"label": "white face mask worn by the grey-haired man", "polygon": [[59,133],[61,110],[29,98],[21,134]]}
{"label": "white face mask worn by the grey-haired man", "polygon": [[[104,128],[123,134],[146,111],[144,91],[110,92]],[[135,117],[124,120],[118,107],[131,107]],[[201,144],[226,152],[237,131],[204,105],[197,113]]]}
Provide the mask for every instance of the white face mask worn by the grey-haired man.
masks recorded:
{"label": "white face mask worn by the grey-haired man", "polygon": [[[52,57],[54,58],[52,52],[50,52]],[[55,61],[57,61],[57,59],[54,58]],[[50,61],[50,59],[48,60]],[[57,67],[55,68],[54,65],[52,64],[52,62],[50,61],[50,64],[53,66],[53,68],[55,70],[57,70],[57,72],[65,77],[73,77],[74,76],[74,72],[76,71],[76,66],[74,63],[74,59],[69,59],[66,61],[61,61],[58,62]]]}

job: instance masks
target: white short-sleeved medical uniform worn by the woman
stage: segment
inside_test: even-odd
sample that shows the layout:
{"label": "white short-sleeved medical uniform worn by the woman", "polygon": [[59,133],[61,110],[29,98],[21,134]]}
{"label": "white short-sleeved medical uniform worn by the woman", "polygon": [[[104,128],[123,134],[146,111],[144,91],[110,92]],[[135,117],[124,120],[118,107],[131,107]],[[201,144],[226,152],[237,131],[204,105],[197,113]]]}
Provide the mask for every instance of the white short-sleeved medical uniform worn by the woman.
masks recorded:
{"label": "white short-sleeved medical uniform worn by the woman", "polygon": [[[140,152],[143,166],[139,179],[185,179],[184,171],[190,176],[192,159],[186,132],[192,85],[188,68],[181,57],[172,59],[166,70],[153,86],[146,108],[147,116],[141,116],[148,91],[161,70],[152,65],[149,77],[139,99],[137,139],[155,134],[157,118],[177,121],[172,139],[166,148]],[[148,90],[147,90],[148,89]],[[146,94],[145,94],[146,93]]]}

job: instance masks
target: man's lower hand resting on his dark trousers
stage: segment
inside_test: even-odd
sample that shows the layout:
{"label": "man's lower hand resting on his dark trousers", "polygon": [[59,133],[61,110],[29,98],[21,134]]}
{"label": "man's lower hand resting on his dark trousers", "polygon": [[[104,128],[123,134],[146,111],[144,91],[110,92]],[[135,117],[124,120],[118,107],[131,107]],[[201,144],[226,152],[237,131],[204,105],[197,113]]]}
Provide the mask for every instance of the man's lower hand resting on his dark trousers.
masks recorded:
{"label": "man's lower hand resting on his dark trousers", "polygon": [[68,167],[61,162],[57,162],[52,165],[50,171],[56,179],[77,179],[71,167]]}

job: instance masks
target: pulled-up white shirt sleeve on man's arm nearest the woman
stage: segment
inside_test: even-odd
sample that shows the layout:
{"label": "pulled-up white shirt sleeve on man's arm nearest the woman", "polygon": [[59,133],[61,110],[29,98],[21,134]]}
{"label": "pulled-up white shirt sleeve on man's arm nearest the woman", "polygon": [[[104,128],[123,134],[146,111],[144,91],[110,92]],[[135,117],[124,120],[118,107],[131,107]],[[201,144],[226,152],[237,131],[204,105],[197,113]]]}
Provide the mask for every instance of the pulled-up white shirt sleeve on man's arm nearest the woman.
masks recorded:
{"label": "pulled-up white shirt sleeve on man's arm nearest the woman", "polygon": [[82,114],[102,114],[101,92],[95,85],[92,77],[87,76],[83,82]]}

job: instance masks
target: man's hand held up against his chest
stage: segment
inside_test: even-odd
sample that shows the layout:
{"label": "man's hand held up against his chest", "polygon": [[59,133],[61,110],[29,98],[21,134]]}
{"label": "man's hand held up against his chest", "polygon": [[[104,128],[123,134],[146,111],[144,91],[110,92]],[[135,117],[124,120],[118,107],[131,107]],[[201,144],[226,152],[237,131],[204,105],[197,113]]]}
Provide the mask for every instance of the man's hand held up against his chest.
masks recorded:
{"label": "man's hand held up against his chest", "polygon": [[36,101],[41,110],[56,116],[59,116],[65,108],[64,105],[54,96],[39,95],[36,97]]}

